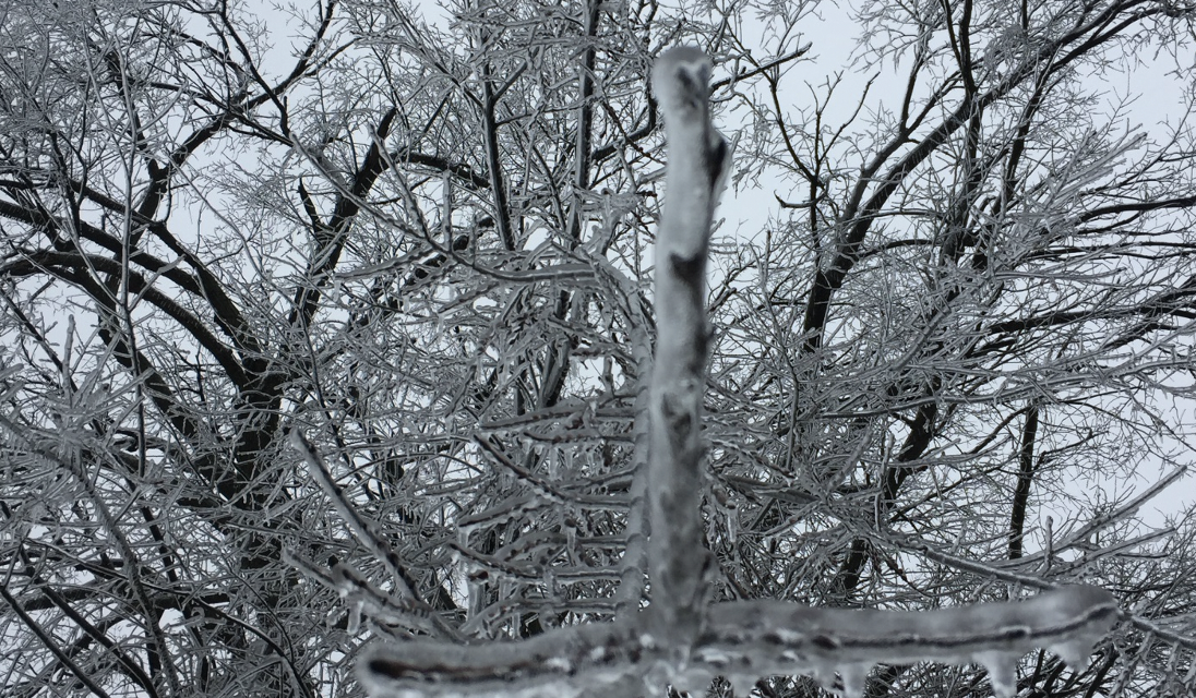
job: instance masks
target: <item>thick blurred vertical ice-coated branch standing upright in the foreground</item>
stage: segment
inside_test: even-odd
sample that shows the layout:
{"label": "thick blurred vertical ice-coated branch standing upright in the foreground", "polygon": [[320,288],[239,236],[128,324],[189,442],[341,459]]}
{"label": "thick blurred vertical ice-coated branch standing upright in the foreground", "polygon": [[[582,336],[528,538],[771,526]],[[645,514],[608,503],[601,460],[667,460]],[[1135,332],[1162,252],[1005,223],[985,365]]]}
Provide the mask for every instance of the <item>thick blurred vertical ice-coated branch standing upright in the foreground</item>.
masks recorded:
{"label": "thick blurred vertical ice-coated branch standing upright in the foreground", "polygon": [[669,147],[666,200],[655,255],[657,355],[649,399],[649,578],[654,630],[682,651],[701,625],[701,409],[709,330],[706,253],[727,146],[710,125],[709,60],[697,49],[664,54],[652,85]]}

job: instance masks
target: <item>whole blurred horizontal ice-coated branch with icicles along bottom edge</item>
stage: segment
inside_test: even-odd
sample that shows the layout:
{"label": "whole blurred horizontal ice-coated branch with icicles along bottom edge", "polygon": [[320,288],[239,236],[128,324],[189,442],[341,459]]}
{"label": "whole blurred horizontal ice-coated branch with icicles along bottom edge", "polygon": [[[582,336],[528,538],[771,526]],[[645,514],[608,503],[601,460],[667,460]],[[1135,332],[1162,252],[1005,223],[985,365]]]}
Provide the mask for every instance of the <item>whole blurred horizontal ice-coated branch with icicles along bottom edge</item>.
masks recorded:
{"label": "whole blurred horizontal ice-coated branch with icicles along bottom edge", "polygon": [[[361,663],[361,679],[376,698],[579,696],[636,675],[697,690],[722,675],[742,694],[777,674],[806,674],[837,688],[837,673],[843,694],[860,696],[877,663],[939,661],[984,666],[995,694],[1005,698],[1017,694],[1017,663],[1025,653],[1048,647],[1081,666],[1118,616],[1112,594],[1090,586],[932,611],[733,601],[709,607],[683,666],[673,659],[684,653],[658,647],[624,622],[554,630],[519,643],[380,645]],[[660,692],[664,685],[648,680],[645,687]]]}

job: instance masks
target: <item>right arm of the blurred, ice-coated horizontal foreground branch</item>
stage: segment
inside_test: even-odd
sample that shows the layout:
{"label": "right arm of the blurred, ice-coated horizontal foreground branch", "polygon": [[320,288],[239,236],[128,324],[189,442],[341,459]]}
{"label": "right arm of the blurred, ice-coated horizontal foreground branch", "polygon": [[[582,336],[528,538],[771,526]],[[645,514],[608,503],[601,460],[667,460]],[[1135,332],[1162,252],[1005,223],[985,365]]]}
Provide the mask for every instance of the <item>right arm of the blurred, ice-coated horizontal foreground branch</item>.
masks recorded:
{"label": "right arm of the blurred, ice-coated horizontal foreground branch", "polygon": [[1020,602],[934,611],[738,601],[710,608],[694,665],[709,667],[712,678],[722,675],[740,687],[750,687],[761,676],[800,673],[829,688],[837,672],[843,693],[861,696],[868,671],[879,662],[975,662],[988,669],[999,697],[1012,697],[1021,655],[1045,647],[1081,669],[1118,616],[1112,594],[1084,584]]}

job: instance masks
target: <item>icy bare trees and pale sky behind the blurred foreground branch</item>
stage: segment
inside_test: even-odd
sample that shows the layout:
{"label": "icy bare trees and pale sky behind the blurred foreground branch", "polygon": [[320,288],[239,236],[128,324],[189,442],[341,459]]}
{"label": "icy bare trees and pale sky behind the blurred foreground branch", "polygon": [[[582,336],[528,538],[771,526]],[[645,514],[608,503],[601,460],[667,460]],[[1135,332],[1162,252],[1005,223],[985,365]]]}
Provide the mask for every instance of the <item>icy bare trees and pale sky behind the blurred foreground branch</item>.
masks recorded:
{"label": "icy bare trees and pale sky behind the blurred foreground branch", "polygon": [[[643,604],[646,75],[679,43],[714,56],[737,140],[698,485],[721,598],[917,610],[1086,582],[1127,620],[1087,669],[1024,657],[1021,696],[1196,687],[1196,532],[1149,515],[1192,454],[1196,6],[0,17],[12,696],[354,694],[371,638]],[[844,44],[868,86],[847,94],[813,62]],[[1123,111],[1143,62],[1179,87],[1146,129]],[[991,691],[939,665],[867,688]]]}

